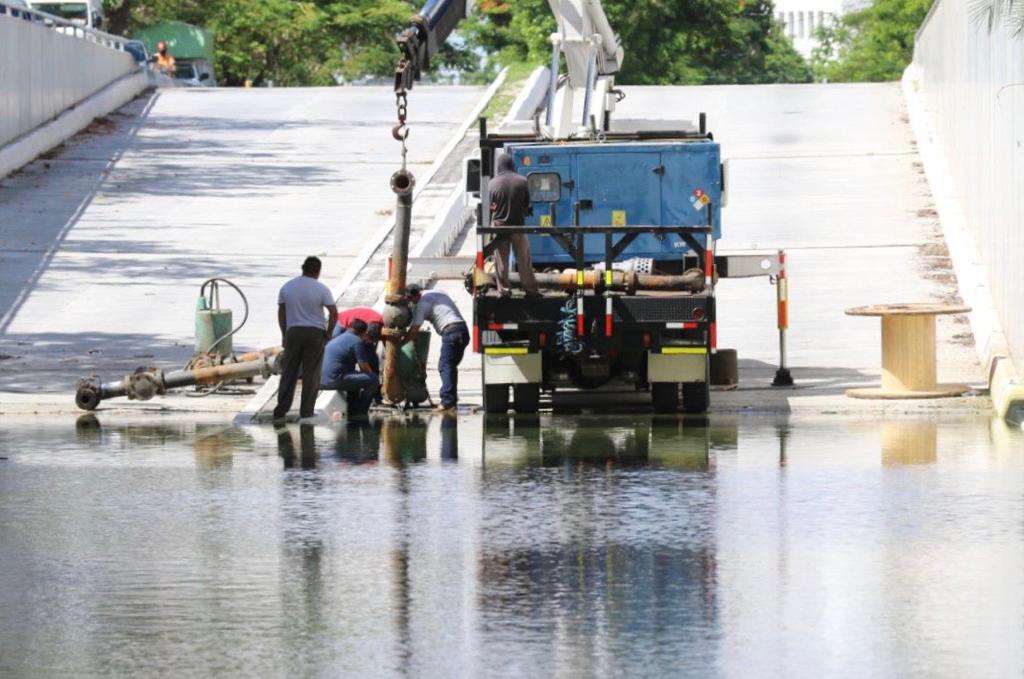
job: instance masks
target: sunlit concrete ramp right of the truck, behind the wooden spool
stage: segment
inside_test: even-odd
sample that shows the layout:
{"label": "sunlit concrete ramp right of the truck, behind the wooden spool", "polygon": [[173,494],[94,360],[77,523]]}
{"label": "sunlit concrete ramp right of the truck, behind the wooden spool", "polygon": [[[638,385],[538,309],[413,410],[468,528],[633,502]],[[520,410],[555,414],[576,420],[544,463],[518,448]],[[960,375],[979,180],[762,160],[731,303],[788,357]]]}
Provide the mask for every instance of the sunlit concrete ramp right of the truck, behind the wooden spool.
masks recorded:
{"label": "sunlit concrete ramp right of the truck, behind the wooden spool", "polygon": [[[717,290],[719,345],[739,352],[740,389],[715,392],[713,411],[987,407],[968,402],[985,400],[978,398],[843,395],[848,386],[877,383],[882,365],[879,320],[847,316],[846,308],[957,299],[898,83],[622,89],[621,118],[696,121],[707,112],[730,159],[721,250],[787,252],[788,357],[799,388],[769,386],[778,364],[775,289],[767,279],[725,280]],[[470,242],[462,254],[472,251]],[[470,317],[461,285],[442,287]],[[937,335],[939,380],[984,384],[967,317],[940,316]],[[463,366],[460,391],[479,404],[478,356],[467,354]]]}

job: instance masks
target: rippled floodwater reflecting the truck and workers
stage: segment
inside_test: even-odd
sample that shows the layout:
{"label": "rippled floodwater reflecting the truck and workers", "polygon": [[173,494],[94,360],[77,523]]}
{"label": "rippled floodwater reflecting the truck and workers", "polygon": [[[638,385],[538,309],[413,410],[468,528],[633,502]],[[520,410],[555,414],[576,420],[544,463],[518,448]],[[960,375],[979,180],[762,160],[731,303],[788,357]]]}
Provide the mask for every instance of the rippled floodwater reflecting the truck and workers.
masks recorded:
{"label": "rippled floodwater reflecting the truck and workers", "polygon": [[987,420],[0,424],[0,675],[1024,672]]}

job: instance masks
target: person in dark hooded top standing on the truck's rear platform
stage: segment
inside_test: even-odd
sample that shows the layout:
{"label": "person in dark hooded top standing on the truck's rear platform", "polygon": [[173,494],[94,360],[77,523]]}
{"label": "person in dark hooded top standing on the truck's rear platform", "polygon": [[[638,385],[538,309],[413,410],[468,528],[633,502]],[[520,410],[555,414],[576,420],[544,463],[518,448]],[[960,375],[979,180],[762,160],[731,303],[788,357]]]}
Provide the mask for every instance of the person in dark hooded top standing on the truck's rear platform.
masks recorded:
{"label": "person in dark hooded top standing on the truck's rear platform", "polygon": [[[498,175],[487,184],[490,193],[490,224],[493,226],[522,226],[526,215],[532,213],[526,178],[515,171],[515,163],[508,154],[498,159]],[[527,296],[539,295],[534,279],[534,261],[529,256],[529,241],[525,234],[510,234],[495,250],[495,273],[498,293],[511,294],[509,284],[509,250],[515,252],[519,282]]]}

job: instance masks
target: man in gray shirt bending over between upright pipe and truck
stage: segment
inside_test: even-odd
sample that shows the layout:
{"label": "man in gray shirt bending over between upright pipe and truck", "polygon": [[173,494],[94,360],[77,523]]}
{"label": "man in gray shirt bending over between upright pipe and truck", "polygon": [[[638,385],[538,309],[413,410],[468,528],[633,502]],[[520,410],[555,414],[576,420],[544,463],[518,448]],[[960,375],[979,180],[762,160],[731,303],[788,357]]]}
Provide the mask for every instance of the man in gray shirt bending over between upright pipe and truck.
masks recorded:
{"label": "man in gray shirt bending over between upright pipe and truck", "polygon": [[407,296],[416,308],[406,341],[415,341],[424,323],[430,322],[434,327],[434,332],[441,338],[441,357],[437,364],[437,371],[441,374],[441,405],[437,410],[445,415],[455,415],[459,404],[459,364],[469,346],[469,329],[455,302],[440,290],[424,291],[420,286],[413,285],[408,292]]}

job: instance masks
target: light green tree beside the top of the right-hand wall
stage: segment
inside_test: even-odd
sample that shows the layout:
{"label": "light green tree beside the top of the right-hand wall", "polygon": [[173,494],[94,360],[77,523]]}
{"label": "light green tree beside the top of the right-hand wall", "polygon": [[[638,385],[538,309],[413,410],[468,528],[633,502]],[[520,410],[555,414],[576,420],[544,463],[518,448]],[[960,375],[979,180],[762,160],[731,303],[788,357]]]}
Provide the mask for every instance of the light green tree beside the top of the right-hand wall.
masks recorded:
{"label": "light green tree beside the top of the right-hand wall", "polygon": [[816,80],[899,80],[913,57],[913,38],[933,0],[876,0],[817,32],[811,55]]}

